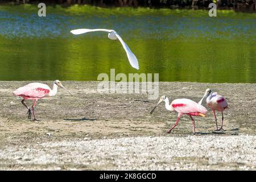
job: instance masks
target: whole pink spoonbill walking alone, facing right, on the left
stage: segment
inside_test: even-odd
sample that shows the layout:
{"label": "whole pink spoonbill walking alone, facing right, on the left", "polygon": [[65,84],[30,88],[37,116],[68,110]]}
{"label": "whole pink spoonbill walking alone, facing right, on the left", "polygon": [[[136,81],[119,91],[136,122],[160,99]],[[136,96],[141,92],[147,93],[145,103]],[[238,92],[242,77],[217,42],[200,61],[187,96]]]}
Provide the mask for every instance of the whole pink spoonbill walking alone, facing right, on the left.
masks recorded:
{"label": "whole pink spoonbill walking alone, facing right, on the left", "polygon": [[[31,119],[31,110],[30,107],[28,107],[25,103],[24,100],[34,100],[34,104],[32,106],[32,113],[34,116],[34,121],[38,121],[38,119],[36,119],[36,115],[35,115],[35,105],[36,105],[36,101],[38,101],[39,99],[45,98],[45,97],[52,97],[55,96],[57,93],[57,88],[58,86],[60,86],[61,88],[67,90],[59,80],[55,80],[53,82],[53,86],[52,89],[49,88],[48,85],[46,84],[41,84],[41,83],[31,83],[31,84],[27,84],[25,86],[22,86],[18,89],[16,89],[13,93],[16,96],[19,97],[23,97],[23,100],[21,101],[22,104],[28,109],[28,119]],[[71,94],[68,90],[67,92],[69,94]],[[73,96],[71,94],[71,96]]]}

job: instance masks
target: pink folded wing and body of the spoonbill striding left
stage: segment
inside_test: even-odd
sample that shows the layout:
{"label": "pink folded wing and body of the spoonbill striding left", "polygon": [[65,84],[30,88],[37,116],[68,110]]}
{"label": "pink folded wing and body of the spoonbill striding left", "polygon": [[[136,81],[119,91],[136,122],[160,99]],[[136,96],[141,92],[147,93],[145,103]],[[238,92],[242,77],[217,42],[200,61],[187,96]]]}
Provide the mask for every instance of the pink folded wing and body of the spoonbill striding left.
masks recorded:
{"label": "pink folded wing and body of the spoonbill striding left", "polygon": [[172,101],[171,106],[178,113],[202,113],[206,114],[207,109],[204,106],[197,104],[196,102],[189,100],[187,98],[179,98]]}

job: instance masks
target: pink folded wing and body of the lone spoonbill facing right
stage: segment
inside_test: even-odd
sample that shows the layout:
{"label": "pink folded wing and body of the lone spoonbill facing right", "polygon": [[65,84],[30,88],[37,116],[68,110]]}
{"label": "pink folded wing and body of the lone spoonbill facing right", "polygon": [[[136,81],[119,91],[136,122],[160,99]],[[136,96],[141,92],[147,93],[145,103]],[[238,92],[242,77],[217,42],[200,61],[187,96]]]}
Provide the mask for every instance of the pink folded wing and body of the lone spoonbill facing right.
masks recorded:
{"label": "pink folded wing and body of the lone spoonbill facing right", "polygon": [[42,98],[51,91],[46,84],[31,83],[16,89],[13,93],[20,97]]}

